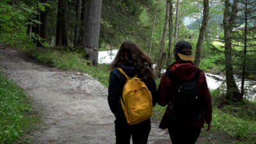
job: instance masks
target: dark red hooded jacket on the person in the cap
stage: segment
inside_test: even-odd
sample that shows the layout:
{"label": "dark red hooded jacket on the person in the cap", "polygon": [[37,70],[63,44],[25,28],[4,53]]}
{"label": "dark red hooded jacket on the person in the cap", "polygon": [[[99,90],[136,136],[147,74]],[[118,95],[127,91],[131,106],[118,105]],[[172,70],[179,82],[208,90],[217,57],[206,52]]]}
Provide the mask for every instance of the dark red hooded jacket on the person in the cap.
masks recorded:
{"label": "dark red hooded jacket on the person in the cap", "polygon": [[[171,65],[170,70],[172,70],[173,76],[175,76],[179,81],[187,81],[195,77],[197,67],[191,62],[177,60],[175,61],[175,63]],[[175,102],[175,92],[173,88],[174,87],[173,87],[172,81],[169,79],[168,76],[166,76],[166,74],[164,74],[157,90],[157,94],[158,94],[157,103],[160,106],[166,106],[170,102]],[[212,120],[211,95],[207,86],[207,82],[205,80],[205,74],[202,70],[200,70],[200,76],[198,79],[198,88],[199,88],[198,97],[202,101],[202,108],[204,111],[203,118],[193,124],[189,124],[189,125],[180,124],[177,126],[204,127],[204,122],[206,122],[206,124],[211,123],[211,120]],[[166,127],[168,127],[166,125],[166,116],[168,115],[169,111],[170,109],[166,108],[166,111],[164,113],[164,116],[159,126],[160,128],[165,129]]]}

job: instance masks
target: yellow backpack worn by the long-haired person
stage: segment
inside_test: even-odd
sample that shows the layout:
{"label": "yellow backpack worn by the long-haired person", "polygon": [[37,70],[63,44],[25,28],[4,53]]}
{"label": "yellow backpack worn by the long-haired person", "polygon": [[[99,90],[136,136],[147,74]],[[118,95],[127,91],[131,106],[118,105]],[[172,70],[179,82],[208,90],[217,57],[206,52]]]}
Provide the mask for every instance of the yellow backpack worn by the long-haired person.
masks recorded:
{"label": "yellow backpack worn by the long-haired person", "polygon": [[127,78],[123,95],[120,97],[125,118],[129,125],[139,124],[152,116],[152,95],[146,84],[137,77],[128,77],[122,68],[118,68]]}

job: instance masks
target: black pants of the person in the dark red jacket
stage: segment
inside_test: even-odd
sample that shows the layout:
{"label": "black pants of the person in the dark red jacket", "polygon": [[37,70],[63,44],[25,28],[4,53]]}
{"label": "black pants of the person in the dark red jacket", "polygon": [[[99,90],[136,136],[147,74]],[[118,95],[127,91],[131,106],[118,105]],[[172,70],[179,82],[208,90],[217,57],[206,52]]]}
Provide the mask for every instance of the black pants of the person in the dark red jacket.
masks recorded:
{"label": "black pants of the person in the dark red jacket", "polygon": [[201,127],[168,127],[173,144],[195,144]]}

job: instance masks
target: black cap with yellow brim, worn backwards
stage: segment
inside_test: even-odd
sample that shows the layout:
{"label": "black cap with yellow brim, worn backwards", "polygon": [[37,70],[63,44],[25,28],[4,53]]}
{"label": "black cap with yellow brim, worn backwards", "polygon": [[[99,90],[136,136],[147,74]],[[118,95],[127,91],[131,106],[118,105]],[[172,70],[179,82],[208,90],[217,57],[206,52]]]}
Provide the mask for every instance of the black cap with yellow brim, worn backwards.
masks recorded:
{"label": "black cap with yellow brim, worn backwards", "polygon": [[192,46],[189,42],[185,42],[184,40],[180,40],[175,45],[175,51],[177,51],[181,60],[184,61],[194,61],[195,58],[192,54]]}

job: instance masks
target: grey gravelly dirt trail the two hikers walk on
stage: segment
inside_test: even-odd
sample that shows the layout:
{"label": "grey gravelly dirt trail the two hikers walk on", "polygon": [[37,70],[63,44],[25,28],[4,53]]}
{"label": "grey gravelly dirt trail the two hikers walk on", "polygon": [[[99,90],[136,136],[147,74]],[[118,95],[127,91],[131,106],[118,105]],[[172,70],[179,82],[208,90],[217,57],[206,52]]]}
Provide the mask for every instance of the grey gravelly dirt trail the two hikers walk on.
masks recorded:
{"label": "grey gravelly dirt trail the two hikers walk on", "polygon": [[[43,122],[29,135],[31,143],[115,143],[115,117],[102,84],[81,72],[36,63],[19,49],[0,52],[0,70],[24,88],[33,107],[42,111]],[[148,143],[171,143],[158,124],[152,120]]]}

